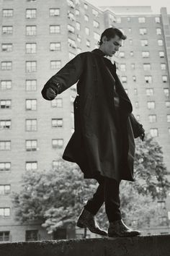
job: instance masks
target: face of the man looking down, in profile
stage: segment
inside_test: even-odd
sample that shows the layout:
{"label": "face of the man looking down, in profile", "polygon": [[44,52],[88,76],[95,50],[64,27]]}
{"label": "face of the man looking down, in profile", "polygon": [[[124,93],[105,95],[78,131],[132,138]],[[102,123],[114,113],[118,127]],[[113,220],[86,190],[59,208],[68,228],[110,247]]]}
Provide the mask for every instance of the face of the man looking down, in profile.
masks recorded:
{"label": "face of the man looking down, in profile", "polygon": [[113,54],[115,54],[117,51],[119,51],[119,48],[122,46],[122,39],[115,35],[115,38],[111,38],[110,40],[104,41],[104,51],[107,56],[112,57]]}

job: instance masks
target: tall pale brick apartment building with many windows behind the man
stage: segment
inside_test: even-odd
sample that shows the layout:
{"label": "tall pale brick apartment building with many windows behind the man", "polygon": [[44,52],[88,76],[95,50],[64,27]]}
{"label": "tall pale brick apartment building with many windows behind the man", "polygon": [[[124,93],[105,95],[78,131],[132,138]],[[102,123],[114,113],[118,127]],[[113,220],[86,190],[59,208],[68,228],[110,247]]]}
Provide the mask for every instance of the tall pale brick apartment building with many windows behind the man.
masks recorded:
{"label": "tall pale brick apartment building with many windows behind the man", "polygon": [[22,174],[28,170],[58,165],[58,155],[74,129],[76,85],[53,101],[45,101],[40,92],[76,54],[97,48],[107,27],[118,27],[128,36],[112,61],[133,113],[162,146],[170,173],[166,8],[151,14],[149,7],[99,8],[78,0],[0,0],[0,9],[0,241],[53,238],[38,222],[16,221],[10,195],[19,192]]}

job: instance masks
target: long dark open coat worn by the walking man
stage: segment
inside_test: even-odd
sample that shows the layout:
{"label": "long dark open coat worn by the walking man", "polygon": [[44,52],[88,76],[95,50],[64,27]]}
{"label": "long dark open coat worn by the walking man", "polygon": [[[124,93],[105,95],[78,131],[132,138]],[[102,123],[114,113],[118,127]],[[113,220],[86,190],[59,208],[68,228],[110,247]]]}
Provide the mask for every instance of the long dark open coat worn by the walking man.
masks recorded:
{"label": "long dark open coat worn by the walking man", "polygon": [[[85,179],[95,179],[101,174],[119,181],[134,181],[134,138],[145,130],[133,116],[130,98],[117,74],[115,80],[104,64],[101,52],[94,49],[78,54],[46,82],[42,97],[48,100],[47,88],[61,94],[78,82],[79,95],[73,103],[75,132],[66,145],[63,159],[77,163]],[[116,82],[120,126],[113,101]],[[121,146],[120,141],[123,142]]]}

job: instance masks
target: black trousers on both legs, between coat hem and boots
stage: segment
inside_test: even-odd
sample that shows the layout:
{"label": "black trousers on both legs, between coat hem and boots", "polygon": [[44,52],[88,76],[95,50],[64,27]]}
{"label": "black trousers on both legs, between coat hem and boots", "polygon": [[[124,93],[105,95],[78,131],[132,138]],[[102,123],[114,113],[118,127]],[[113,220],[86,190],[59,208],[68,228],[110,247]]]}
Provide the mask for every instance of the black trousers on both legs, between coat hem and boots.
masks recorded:
{"label": "black trousers on both legs, between coat hem and boots", "polygon": [[93,197],[86,202],[84,208],[96,215],[99,208],[101,208],[105,202],[105,210],[109,222],[120,220],[120,182],[105,176],[99,176],[97,182],[99,182],[97,191],[94,193]]}

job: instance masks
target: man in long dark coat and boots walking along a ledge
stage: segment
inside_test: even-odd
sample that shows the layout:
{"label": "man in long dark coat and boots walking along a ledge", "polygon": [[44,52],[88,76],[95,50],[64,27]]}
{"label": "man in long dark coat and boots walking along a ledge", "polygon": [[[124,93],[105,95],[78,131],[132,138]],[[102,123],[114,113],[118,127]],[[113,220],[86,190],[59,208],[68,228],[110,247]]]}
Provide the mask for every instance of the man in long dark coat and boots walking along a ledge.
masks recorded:
{"label": "man in long dark coat and boots walking along a ledge", "polygon": [[134,137],[143,140],[145,130],[133,116],[133,106],[116,74],[112,56],[126,36],[109,27],[101,35],[99,49],[78,54],[46,82],[42,96],[52,101],[56,95],[77,83],[74,101],[75,132],[66,146],[63,159],[75,162],[84,179],[97,179],[99,187],[84,205],[77,226],[106,236],[95,215],[103,202],[109,220],[108,236],[136,236],[123,223],[119,187],[122,179],[134,181]]}

